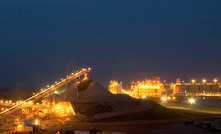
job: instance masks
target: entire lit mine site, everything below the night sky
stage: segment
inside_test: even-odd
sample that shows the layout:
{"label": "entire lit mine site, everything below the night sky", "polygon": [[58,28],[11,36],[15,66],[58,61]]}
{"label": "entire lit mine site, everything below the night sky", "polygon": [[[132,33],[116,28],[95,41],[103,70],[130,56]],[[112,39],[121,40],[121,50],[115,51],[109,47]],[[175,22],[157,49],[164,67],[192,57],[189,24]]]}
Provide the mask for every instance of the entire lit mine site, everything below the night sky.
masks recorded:
{"label": "entire lit mine site, everything below the night sky", "polygon": [[[68,74],[25,100],[1,100],[1,133],[220,133],[220,84],[90,79],[91,68]],[[171,88],[172,87],[172,88]]]}

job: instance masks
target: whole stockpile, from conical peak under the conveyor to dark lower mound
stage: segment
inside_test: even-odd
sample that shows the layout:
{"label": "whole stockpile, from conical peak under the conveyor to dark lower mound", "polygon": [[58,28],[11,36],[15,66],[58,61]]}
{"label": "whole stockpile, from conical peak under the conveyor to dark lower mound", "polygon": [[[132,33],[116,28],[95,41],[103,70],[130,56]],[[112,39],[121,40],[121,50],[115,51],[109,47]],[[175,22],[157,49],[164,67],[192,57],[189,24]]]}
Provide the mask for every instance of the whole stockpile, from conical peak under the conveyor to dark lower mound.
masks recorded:
{"label": "whole stockpile, from conical peak under the conveyor to dark lower mound", "polygon": [[71,102],[75,112],[86,115],[87,121],[169,118],[174,114],[153,101],[112,94],[91,79],[74,83],[59,100]]}

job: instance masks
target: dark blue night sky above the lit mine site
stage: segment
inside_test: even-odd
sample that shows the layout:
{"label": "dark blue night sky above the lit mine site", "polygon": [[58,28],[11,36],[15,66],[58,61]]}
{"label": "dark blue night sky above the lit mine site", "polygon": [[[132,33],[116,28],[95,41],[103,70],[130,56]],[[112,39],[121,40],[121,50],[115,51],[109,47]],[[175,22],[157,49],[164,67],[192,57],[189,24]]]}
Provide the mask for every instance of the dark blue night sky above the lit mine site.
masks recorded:
{"label": "dark blue night sky above the lit mine site", "polygon": [[43,86],[69,61],[104,85],[221,71],[220,0],[0,1],[0,86]]}

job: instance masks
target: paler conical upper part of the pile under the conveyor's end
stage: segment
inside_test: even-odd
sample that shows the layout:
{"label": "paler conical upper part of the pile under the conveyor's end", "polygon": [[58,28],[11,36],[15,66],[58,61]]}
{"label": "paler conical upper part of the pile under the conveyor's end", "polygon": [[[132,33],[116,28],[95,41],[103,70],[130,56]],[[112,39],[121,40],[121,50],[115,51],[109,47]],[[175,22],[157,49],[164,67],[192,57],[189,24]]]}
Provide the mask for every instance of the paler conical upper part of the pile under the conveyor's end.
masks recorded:
{"label": "paler conical upper part of the pile under the conveyor's end", "polygon": [[59,101],[69,101],[78,103],[88,102],[126,102],[134,99],[125,94],[114,95],[98,82],[91,79],[84,79],[74,83],[63,92]]}

